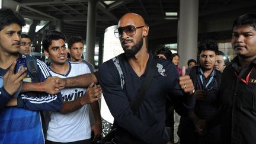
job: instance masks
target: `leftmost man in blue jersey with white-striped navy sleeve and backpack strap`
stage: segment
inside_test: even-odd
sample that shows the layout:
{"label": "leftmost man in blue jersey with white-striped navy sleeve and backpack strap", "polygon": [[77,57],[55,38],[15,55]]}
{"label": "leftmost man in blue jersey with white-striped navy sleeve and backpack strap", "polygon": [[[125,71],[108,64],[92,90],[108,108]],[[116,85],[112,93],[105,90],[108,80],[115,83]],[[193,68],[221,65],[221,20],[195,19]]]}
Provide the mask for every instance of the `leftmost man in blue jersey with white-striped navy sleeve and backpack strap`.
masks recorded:
{"label": "leftmost man in blue jersey with white-striped navy sleeve and backpack strap", "polygon": [[[44,143],[39,110],[59,111],[62,97],[44,93],[43,83],[40,93],[18,95],[23,78],[31,79],[26,68],[14,74],[16,60],[25,58],[19,53],[25,21],[11,9],[0,9],[0,21],[0,143]],[[37,81],[43,82],[49,76],[46,65],[37,60],[36,66]],[[17,107],[5,107],[12,100]]]}

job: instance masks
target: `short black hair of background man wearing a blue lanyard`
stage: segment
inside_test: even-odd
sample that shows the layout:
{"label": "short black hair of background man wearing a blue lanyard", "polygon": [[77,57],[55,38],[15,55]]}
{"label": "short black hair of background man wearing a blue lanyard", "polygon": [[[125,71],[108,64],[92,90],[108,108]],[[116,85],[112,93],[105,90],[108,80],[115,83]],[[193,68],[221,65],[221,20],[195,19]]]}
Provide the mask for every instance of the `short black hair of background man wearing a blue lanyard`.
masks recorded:
{"label": "short black hair of background man wearing a blue lanyard", "polygon": [[206,40],[200,41],[199,46],[198,46],[198,55],[200,55],[200,53],[203,50],[213,50],[215,52],[215,54],[217,55],[217,53],[219,52],[219,47],[215,40],[206,39]]}

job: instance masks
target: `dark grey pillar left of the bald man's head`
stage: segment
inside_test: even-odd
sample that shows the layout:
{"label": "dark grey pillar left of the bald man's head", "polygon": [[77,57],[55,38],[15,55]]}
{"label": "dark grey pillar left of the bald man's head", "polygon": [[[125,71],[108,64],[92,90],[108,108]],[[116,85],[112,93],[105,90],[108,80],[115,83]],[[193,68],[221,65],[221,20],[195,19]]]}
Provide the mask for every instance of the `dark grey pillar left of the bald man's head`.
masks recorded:
{"label": "dark grey pillar left of the bald man's head", "polygon": [[85,59],[89,63],[94,63],[96,4],[97,4],[97,0],[88,0],[87,42],[86,42]]}

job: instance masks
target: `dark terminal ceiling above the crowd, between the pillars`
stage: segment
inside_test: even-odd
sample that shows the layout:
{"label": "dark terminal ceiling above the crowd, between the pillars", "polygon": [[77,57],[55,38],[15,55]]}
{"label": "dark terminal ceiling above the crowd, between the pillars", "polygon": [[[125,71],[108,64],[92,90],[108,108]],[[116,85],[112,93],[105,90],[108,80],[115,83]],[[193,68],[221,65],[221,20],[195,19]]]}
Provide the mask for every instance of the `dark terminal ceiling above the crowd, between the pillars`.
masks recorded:
{"label": "dark terminal ceiling above the crowd, between the pillars", "polygon": [[[24,17],[52,22],[63,21],[62,32],[67,37],[73,35],[82,36],[84,39],[86,37],[88,0],[3,1],[19,5],[18,11]],[[254,12],[255,6],[255,0],[199,0],[199,24],[204,20],[235,18],[244,12]],[[164,34],[159,34],[159,31],[177,29],[178,17],[166,17],[165,12],[178,12],[179,7],[179,0],[116,0],[110,5],[98,0],[96,37],[104,36],[105,28],[117,24],[121,15],[135,12],[145,18],[146,23],[151,27],[151,33],[158,35],[151,39],[161,39],[165,36],[161,36]]]}

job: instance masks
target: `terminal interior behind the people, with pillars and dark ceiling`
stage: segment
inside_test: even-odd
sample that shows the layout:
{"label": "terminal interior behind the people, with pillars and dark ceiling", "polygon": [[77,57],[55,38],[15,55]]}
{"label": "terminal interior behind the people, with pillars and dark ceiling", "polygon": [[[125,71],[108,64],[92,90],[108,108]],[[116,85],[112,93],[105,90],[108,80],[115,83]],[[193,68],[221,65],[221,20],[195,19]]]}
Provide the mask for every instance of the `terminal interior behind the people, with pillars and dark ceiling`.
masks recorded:
{"label": "terminal interior behind the people, with pillars and dark ceiling", "polygon": [[[56,29],[62,31],[67,39],[71,36],[81,36],[86,47],[85,59],[96,67],[103,62],[105,31],[108,27],[117,25],[121,15],[127,12],[135,12],[145,18],[149,25],[150,52],[155,52],[160,46],[167,46],[173,53],[183,53],[188,49],[196,50],[198,41],[211,38],[216,40],[219,49],[232,59],[235,56],[230,43],[232,22],[238,15],[255,13],[256,5],[254,0],[2,0],[0,2],[1,7],[14,9],[25,18],[27,25],[23,28],[23,33],[33,37],[34,56],[44,61],[48,60],[43,54],[41,39],[47,31]],[[195,38],[193,42],[190,41],[192,38]],[[184,60],[181,58],[181,63],[187,62],[194,56]]]}

